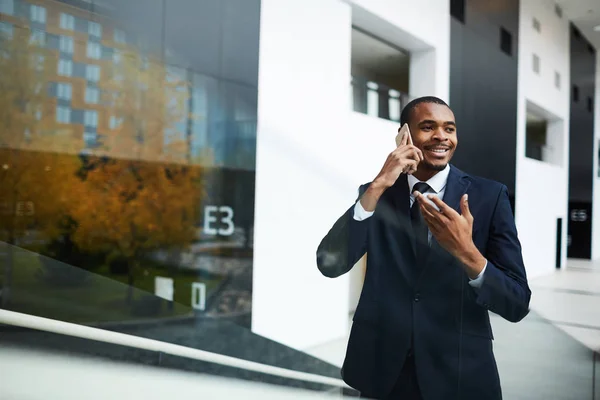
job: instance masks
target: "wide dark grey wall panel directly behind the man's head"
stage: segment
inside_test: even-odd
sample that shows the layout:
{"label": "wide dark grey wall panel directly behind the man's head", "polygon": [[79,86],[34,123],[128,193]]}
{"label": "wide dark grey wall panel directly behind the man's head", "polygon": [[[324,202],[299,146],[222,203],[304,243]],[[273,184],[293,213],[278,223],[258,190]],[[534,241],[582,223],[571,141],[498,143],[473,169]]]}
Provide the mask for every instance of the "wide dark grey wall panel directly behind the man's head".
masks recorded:
{"label": "wide dark grey wall panel directly behind the man's head", "polygon": [[[502,182],[511,200],[516,174],[518,23],[518,0],[478,0],[466,2],[465,22],[452,18],[450,29],[450,106],[459,138],[453,162],[468,173]],[[501,48],[503,30],[508,53]]]}

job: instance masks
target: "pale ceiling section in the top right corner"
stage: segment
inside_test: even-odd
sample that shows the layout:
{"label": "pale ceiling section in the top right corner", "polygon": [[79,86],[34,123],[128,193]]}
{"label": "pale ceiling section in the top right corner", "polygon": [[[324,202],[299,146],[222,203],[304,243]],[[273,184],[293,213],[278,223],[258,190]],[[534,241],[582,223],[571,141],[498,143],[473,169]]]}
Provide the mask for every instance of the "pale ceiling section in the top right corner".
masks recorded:
{"label": "pale ceiling section in the top right corner", "polygon": [[600,0],[559,0],[556,3],[562,8],[563,15],[573,21],[581,34],[600,51],[600,31],[594,31],[594,27],[600,25]]}

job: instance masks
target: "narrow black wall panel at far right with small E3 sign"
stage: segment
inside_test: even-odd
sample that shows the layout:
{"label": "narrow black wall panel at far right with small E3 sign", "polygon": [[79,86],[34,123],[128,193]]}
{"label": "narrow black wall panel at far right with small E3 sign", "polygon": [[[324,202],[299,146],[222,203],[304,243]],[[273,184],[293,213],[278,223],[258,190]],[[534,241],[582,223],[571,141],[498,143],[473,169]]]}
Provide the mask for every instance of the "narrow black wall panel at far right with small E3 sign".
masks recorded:
{"label": "narrow black wall panel at far right with small E3 sign", "polygon": [[[571,26],[568,257],[591,258],[596,52]],[[589,107],[591,103],[592,107]]]}

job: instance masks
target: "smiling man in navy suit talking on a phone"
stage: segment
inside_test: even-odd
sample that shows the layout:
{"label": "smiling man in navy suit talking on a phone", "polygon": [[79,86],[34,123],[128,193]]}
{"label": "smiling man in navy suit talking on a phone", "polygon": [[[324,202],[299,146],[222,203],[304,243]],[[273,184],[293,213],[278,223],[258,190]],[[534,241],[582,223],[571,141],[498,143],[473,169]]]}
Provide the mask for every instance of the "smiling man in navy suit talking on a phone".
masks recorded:
{"label": "smiling man in navy suit talking on a phone", "polygon": [[488,311],[518,322],[531,297],[508,190],[449,164],[444,101],[413,100],[405,123],[412,138],[317,250],[332,278],[367,253],[342,376],[368,398],[501,399]]}

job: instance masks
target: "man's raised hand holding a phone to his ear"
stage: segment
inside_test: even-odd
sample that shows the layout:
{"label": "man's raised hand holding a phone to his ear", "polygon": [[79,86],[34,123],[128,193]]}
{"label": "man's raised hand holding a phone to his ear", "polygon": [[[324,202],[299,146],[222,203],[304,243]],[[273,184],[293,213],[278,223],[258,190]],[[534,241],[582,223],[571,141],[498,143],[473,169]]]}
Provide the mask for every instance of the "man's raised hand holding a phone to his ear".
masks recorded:
{"label": "man's raised hand holding a phone to his ear", "polygon": [[398,147],[388,155],[383,168],[360,199],[365,211],[374,211],[381,195],[396,182],[400,174],[414,173],[423,160],[423,153],[413,144],[407,124],[400,128],[398,136],[401,137]]}

